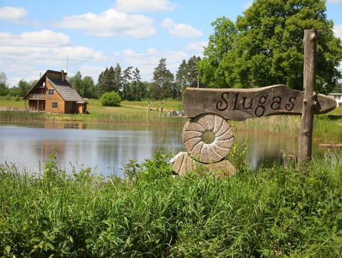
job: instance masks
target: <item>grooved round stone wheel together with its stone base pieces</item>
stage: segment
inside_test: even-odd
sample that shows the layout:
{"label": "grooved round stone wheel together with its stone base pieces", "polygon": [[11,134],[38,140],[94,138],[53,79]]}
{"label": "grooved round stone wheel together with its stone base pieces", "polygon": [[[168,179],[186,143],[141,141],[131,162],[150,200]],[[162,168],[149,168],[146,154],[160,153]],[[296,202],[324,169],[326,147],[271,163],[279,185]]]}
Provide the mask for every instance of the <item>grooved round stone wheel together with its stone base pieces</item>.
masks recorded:
{"label": "grooved round stone wheel together with its stone base pieces", "polygon": [[183,128],[183,143],[187,152],[170,160],[178,175],[201,170],[219,177],[232,176],[234,166],[226,160],[232,148],[232,126],[220,115],[202,114],[191,118]]}

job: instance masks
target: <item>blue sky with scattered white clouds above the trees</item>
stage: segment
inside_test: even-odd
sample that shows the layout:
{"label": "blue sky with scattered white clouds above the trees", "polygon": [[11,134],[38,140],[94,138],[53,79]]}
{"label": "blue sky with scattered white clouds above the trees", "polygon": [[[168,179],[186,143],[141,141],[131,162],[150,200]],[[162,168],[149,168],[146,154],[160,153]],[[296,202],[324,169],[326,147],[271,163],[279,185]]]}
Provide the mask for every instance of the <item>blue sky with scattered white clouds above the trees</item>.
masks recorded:
{"label": "blue sky with scattered white clouds above the trees", "polygon": [[[38,80],[46,70],[91,76],[105,68],[138,68],[152,81],[160,58],[176,73],[201,56],[211,23],[233,22],[250,0],[0,0],[0,73],[9,87]],[[327,19],[342,39],[342,0],[327,0]],[[340,66],[341,69],[341,66]]]}

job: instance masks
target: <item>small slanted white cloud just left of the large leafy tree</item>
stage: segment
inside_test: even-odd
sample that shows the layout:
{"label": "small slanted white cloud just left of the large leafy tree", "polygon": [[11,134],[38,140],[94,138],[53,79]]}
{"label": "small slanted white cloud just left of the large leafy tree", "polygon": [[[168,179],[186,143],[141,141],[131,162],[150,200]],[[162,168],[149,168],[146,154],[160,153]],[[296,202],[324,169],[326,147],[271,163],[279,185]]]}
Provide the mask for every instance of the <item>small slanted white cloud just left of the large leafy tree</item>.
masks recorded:
{"label": "small slanted white cloud just left of the large leafy tree", "polygon": [[165,18],[164,21],[162,21],[162,27],[168,29],[169,33],[175,36],[185,38],[197,38],[202,36],[202,31],[187,24],[175,24],[170,18]]}

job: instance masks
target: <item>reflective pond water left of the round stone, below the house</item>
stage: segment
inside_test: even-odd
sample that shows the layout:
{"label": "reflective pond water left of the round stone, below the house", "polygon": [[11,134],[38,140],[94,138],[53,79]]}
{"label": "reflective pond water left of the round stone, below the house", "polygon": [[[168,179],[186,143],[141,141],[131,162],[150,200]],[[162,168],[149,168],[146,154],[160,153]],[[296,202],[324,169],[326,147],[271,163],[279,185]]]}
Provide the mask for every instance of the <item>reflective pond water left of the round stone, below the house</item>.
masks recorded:
{"label": "reflective pond water left of the round stone, below the house", "polygon": [[[0,126],[0,162],[14,162],[28,172],[39,172],[39,164],[54,153],[58,166],[68,172],[90,167],[104,175],[122,176],[123,164],[152,158],[161,146],[172,146],[172,153],[183,150],[182,128],[57,122],[26,126]],[[84,130],[96,127],[110,130]]]}

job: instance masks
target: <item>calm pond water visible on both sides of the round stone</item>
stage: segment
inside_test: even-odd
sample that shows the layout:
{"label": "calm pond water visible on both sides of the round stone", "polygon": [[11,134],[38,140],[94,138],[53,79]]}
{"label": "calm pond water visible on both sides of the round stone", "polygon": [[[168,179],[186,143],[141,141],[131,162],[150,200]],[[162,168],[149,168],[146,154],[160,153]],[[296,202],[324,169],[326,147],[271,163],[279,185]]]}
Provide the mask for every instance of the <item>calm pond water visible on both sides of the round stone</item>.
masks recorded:
{"label": "calm pond water visible on both sides of the round stone", "polygon": [[[297,140],[279,135],[234,133],[235,143],[247,143],[246,159],[255,169],[282,161],[281,150],[296,155]],[[49,155],[58,167],[90,167],[103,175],[123,176],[130,160],[152,158],[160,148],[184,151],[182,127],[113,125],[105,123],[0,123],[0,162],[13,162],[20,171],[38,173]],[[41,169],[39,169],[41,167]]]}

